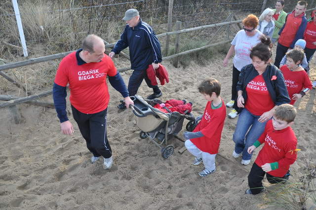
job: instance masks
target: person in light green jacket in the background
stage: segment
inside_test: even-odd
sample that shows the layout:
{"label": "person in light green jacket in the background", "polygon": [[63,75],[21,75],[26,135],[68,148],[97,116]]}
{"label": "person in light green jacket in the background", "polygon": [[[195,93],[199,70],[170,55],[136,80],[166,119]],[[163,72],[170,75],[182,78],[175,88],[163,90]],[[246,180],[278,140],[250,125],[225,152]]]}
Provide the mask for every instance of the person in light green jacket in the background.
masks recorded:
{"label": "person in light green jacket in the background", "polygon": [[273,9],[273,17],[272,21],[275,23],[275,31],[273,32],[272,35],[272,43],[275,43],[276,40],[279,38],[278,32],[281,30],[285,23],[285,18],[286,18],[286,12],[283,11],[284,7],[284,0],[277,0],[276,1],[276,8]]}

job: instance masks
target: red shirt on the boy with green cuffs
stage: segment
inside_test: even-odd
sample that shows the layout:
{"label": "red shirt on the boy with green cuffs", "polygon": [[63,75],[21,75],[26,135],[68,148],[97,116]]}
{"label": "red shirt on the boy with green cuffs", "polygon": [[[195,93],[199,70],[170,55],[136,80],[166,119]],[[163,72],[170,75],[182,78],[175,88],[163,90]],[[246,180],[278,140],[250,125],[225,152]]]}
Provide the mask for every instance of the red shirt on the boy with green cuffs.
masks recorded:
{"label": "red shirt on the boy with green cuffs", "polygon": [[265,131],[261,134],[258,141],[263,144],[255,163],[261,167],[267,163],[278,163],[278,168],[268,173],[272,176],[283,177],[290,165],[297,158],[296,145],[297,139],[290,126],[275,130],[272,120],[268,121]]}

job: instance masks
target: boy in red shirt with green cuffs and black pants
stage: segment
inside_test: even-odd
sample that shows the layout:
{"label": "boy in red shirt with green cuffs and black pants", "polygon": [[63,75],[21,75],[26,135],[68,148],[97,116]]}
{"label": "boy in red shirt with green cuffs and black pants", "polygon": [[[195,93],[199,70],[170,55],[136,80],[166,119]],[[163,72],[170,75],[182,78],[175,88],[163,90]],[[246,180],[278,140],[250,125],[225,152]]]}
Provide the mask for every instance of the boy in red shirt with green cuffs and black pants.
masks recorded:
{"label": "boy in red shirt with green cuffs and black pants", "polygon": [[296,116],[296,109],[290,104],[276,108],[273,119],[268,121],[265,131],[247,152],[251,154],[265,143],[248,175],[249,189],[245,194],[259,194],[265,191],[262,179],[267,173],[271,184],[288,179],[289,168],[297,158],[297,139],[291,126]]}

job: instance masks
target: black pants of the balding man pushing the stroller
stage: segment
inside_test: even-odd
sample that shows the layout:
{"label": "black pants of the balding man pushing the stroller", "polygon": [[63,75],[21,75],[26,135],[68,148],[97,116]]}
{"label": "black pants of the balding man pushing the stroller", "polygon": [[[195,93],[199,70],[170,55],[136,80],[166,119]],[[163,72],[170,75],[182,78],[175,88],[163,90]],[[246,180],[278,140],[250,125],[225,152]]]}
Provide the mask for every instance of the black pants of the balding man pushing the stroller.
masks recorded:
{"label": "black pants of the balding man pushing the stroller", "polygon": [[81,135],[87,143],[88,150],[94,157],[110,158],[112,149],[107,138],[108,108],[95,114],[84,114],[75,107],[71,107]]}

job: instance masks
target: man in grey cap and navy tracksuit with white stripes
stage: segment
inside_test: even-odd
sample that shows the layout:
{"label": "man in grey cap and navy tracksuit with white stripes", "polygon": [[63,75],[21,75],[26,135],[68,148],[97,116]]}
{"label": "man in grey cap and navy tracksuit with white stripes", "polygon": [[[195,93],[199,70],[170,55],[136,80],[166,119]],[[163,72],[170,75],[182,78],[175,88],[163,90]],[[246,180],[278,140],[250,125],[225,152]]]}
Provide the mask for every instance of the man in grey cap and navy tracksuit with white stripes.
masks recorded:
{"label": "man in grey cap and navy tracksuit with white stripes", "polygon": [[[151,84],[146,73],[149,65],[153,65],[154,69],[159,68],[161,49],[158,38],[154,30],[141,20],[136,9],[128,9],[123,20],[126,21],[127,25],[109,56],[113,58],[115,54],[119,54],[121,50],[129,47],[131,69],[134,70],[128,81],[129,96],[137,93],[139,86],[145,79],[147,85],[154,90],[148,99],[158,98],[162,92],[158,85]],[[122,103],[118,105],[118,108],[124,110],[126,106]]]}

